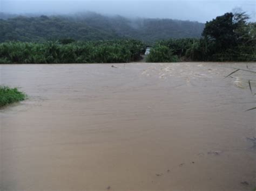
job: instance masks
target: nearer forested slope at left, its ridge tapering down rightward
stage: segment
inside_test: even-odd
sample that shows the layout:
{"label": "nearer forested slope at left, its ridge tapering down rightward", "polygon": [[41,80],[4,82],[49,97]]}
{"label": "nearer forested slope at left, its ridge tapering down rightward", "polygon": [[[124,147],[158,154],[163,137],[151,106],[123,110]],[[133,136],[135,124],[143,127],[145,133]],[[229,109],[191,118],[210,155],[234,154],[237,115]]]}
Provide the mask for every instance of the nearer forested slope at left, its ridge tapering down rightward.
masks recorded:
{"label": "nearer forested slope at left, its ridge tapering down rightward", "polygon": [[116,37],[114,32],[99,30],[84,22],[72,22],[62,17],[15,17],[0,20],[0,41],[44,41],[74,38],[79,40],[102,40]]}

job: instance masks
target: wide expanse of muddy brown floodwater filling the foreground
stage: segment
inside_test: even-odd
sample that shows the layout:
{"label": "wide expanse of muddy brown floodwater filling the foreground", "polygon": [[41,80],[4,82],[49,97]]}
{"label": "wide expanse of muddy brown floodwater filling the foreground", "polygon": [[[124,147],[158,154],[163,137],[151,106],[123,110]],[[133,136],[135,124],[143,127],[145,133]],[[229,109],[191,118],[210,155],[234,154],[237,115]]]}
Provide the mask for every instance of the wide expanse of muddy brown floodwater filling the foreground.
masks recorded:
{"label": "wide expanse of muddy brown floodwater filling the foreground", "polygon": [[255,189],[256,76],[230,67],[256,63],[0,65],[29,95],[0,110],[0,190]]}

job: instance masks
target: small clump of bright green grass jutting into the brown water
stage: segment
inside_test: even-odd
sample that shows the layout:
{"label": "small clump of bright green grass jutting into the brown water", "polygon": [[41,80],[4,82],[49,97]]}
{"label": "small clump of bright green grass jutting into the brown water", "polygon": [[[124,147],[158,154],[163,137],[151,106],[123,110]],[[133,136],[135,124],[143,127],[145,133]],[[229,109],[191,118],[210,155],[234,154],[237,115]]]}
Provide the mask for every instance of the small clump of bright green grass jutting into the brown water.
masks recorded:
{"label": "small clump of bright green grass jutting into the brown water", "polygon": [[0,86],[0,108],[10,103],[23,101],[25,98],[26,94],[19,91],[17,88]]}

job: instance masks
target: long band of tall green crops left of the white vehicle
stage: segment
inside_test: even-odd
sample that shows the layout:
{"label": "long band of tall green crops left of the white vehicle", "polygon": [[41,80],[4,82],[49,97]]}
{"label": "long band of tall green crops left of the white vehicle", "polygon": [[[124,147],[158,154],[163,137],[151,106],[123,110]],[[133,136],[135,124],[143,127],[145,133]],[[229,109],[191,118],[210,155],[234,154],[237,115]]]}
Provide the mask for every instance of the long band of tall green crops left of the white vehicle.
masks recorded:
{"label": "long band of tall green crops left of the white vehicle", "polygon": [[64,44],[10,42],[0,44],[0,63],[114,63],[140,58],[137,40],[82,41]]}

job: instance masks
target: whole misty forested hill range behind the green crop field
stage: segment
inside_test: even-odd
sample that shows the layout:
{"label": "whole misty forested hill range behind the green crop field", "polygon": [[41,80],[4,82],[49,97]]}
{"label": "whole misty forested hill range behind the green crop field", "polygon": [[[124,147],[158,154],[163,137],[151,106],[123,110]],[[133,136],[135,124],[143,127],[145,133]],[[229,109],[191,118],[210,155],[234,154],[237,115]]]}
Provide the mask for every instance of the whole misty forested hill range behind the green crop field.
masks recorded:
{"label": "whole misty forested hill range behind the green crop field", "polygon": [[72,16],[14,16],[0,13],[0,42],[73,38],[133,38],[152,43],[169,38],[200,37],[204,24],[173,19],[127,19],[83,13]]}

